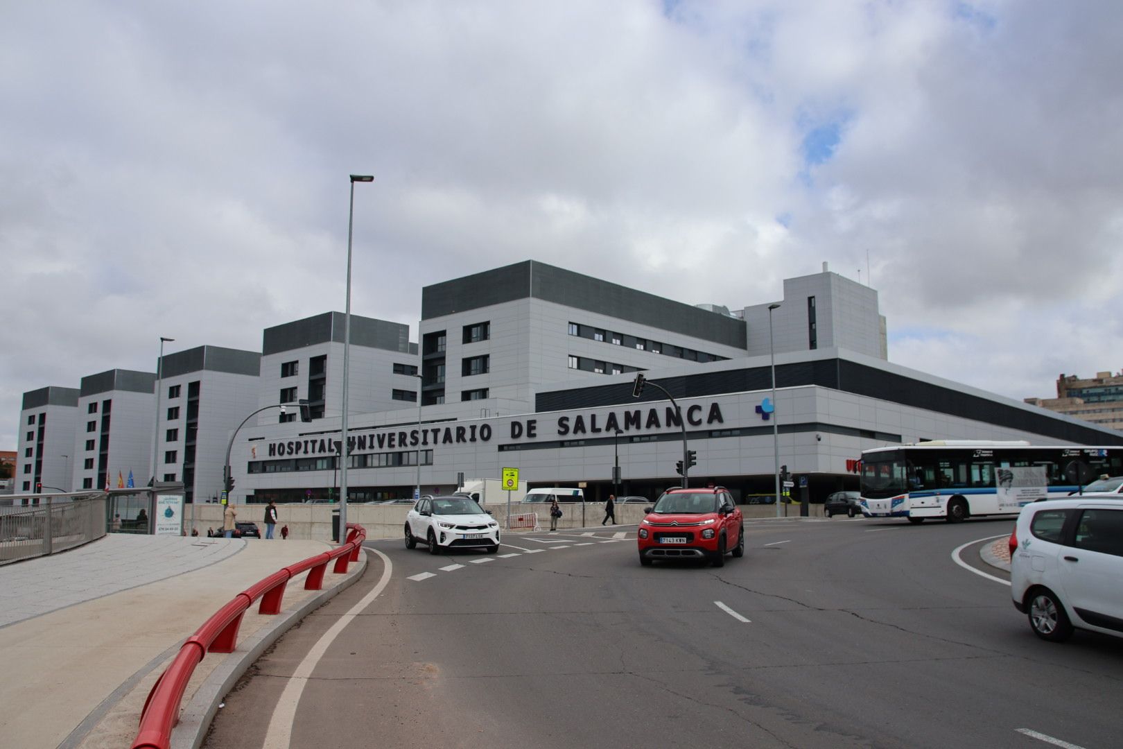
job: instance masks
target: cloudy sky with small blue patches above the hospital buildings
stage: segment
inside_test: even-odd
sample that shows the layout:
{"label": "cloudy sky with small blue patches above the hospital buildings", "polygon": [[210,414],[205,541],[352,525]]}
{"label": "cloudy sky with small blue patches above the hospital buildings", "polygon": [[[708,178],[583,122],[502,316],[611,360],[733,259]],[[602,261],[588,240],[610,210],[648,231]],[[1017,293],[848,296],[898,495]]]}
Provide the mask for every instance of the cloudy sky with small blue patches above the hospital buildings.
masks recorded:
{"label": "cloudy sky with small blue patches above the hospital buildings", "polygon": [[[0,449],[24,392],[538,259],[741,308],[832,271],[1015,399],[1123,349],[1123,3],[8,2]],[[860,275],[860,278],[859,278]]]}

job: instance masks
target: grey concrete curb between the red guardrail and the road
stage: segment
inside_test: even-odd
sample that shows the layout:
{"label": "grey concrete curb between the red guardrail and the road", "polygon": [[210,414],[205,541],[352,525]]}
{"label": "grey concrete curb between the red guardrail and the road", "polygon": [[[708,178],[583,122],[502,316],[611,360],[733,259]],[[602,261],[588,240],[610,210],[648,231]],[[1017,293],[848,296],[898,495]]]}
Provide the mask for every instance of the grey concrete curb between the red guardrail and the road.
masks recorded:
{"label": "grey concrete curb between the red guardrail and the road", "polygon": [[172,729],[172,749],[199,749],[207,738],[211,721],[218,713],[219,703],[230,693],[238,679],[293,624],[350,587],[366,572],[366,557],[364,552],[347,575],[330,588],[307,599],[296,609],[279,614],[275,621],[239,642],[238,649],[229,654],[211,672],[207,681],[195,689],[186,707],[180,712],[180,720]]}

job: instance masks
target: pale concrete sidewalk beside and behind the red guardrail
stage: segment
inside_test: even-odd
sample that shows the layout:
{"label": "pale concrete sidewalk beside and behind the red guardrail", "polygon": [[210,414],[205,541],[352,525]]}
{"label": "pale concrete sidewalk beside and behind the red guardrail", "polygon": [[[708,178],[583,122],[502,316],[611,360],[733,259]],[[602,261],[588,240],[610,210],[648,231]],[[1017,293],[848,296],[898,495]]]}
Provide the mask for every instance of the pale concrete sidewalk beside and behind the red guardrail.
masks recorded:
{"label": "pale concrete sidewalk beside and behind the red guardrail", "polygon": [[[257,581],[331,547],[292,539],[109,535],[0,567],[3,746],[130,746],[148,691],[185,638]],[[241,661],[256,658],[252,651],[263,637],[279,637],[304,611],[354,582],[362,568],[363,563],[335,575],[329,565],[323,591],[304,591],[304,575],[296,576],[277,616],[259,615],[256,603],[250,606],[237,650],[209,654],[195,669],[183,722],[195,693],[216,688],[208,687],[212,674],[225,670],[222,678],[229,681],[252,659]]]}

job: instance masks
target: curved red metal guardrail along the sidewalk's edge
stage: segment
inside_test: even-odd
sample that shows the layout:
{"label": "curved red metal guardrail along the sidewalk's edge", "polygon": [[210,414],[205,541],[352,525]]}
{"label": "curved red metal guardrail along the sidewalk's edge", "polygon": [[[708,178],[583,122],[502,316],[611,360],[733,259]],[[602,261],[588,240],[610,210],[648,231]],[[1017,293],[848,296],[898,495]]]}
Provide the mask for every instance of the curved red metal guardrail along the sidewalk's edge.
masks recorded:
{"label": "curved red metal guardrail along the sidewalk's edge", "polygon": [[347,523],[345,544],[330,551],[282,567],[216,611],[194,634],[186,639],[171,665],[156,679],[140,713],[140,728],[133,742],[133,749],[168,749],[172,743],[172,728],[180,719],[180,703],[183,701],[183,693],[195,666],[208,652],[234,652],[238,642],[241,615],[254,601],[262,600],[257,609],[259,614],[281,613],[281,600],[290,579],[307,569],[309,572],[304,579],[304,590],[319,591],[323,586],[323,572],[328,563],[335,559],[332,572],[346,573],[348,563],[358,561],[365,540],[366,529]]}

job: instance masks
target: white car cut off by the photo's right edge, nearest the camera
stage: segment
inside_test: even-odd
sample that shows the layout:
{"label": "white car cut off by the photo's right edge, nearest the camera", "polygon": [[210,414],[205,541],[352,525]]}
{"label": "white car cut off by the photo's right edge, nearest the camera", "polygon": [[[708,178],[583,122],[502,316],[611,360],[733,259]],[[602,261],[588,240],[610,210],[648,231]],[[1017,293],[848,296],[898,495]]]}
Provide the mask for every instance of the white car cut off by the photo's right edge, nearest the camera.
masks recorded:
{"label": "white car cut off by the photo's right edge, nearest the camera", "polygon": [[1123,502],[1028,504],[1010,550],[1014,606],[1038,637],[1060,642],[1074,628],[1123,637]]}

